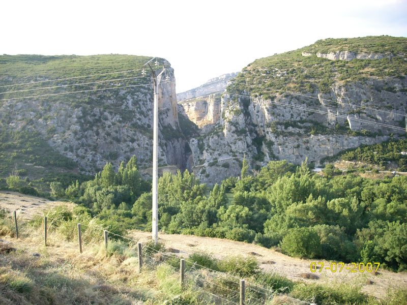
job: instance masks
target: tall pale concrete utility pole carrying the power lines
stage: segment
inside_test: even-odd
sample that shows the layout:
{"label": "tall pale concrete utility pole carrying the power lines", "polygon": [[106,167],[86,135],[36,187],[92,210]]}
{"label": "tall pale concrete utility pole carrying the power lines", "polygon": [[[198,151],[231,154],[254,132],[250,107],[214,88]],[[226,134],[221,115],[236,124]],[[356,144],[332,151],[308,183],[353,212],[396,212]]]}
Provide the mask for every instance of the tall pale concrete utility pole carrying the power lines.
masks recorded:
{"label": "tall pale concrete utility pole carrying the power lines", "polygon": [[[154,121],[153,121],[153,228],[152,228],[152,237],[156,245],[158,242],[158,85],[161,81],[161,76],[165,71],[163,67],[162,71],[156,77],[153,69],[150,66],[150,62],[155,59],[152,58],[149,60],[148,65],[151,70],[151,75],[154,81]],[[145,66],[144,65],[144,66]],[[158,66],[158,60],[155,63]]]}

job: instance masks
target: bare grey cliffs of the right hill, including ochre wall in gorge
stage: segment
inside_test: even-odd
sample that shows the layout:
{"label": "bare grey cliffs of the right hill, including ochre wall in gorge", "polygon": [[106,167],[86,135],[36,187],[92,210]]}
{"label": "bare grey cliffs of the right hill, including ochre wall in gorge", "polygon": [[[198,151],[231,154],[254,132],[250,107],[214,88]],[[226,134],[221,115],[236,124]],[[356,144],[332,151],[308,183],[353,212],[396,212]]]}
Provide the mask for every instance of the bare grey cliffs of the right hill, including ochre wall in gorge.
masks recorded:
{"label": "bare grey cliffs of the right hill, including ochre wall in gorge", "polygon": [[[292,56],[291,53],[276,56],[286,56],[283,57],[285,59]],[[348,51],[299,51],[299,54],[330,60],[382,60],[382,66],[386,65],[383,60],[402,60],[404,56],[391,52]],[[321,59],[317,63],[323,67]],[[227,176],[239,175],[244,155],[253,170],[258,170],[271,160],[283,159],[300,164],[308,158],[308,162],[322,165],[324,158],[344,149],[405,136],[405,75],[368,77],[364,74],[359,77],[362,79],[360,81],[357,77],[356,80],[343,81],[344,77],[331,74],[326,84],[313,76],[314,79],[308,80],[310,93],[293,90],[291,94],[288,90],[277,90],[270,97],[267,83],[274,79],[283,79],[290,85],[295,83],[296,80],[288,78],[293,75],[295,66],[264,67],[264,63],[260,59],[260,66],[249,65],[245,68],[236,78],[239,82],[236,86],[234,81],[230,82],[231,93],[223,94],[219,105],[212,106],[215,112],[220,109],[216,122],[208,120],[211,104],[207,97],[180,103],[188,117],[200,128],[200,136],[190,139],[189,145],[194,161],[193,171],[201,180],[214,184]],[[300,75],[306,73],[303,71]],[[243,86],[245,82],[253,83],[253,78],[263,84],[260,89]],[[254,92],[251,91],[253,88],[256,89]],[[273,87],[270,89],[273,90]],[[206,125],[208,121],[213,125]]]}

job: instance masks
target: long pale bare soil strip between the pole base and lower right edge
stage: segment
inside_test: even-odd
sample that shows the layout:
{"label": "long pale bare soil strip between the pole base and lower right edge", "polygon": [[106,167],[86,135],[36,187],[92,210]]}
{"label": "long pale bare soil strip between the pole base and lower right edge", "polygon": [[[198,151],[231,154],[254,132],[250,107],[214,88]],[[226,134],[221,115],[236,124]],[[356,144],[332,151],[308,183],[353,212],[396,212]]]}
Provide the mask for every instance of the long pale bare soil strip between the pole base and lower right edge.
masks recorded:
{"label": "long pale bare soil strip between the pole base and lower right edge", "polygon": [[[141,242],[151,240],[150,232],[132,231],[132,236]],[[249,256],[255,254],[260,268],[278,273],[294,281],[304,281],[316,284],[330,284],[332,286],[340,283],[358,285],[362,292],[377,298],[384,297],[389,289],[406,288],[407,272],[391,272],[380,268],[380,272],[351,272],[352,264],[345,264],[342,271],[331,271],[331,263],[326,260],[300,259],[289,257],[274,249],[267,249],[250,243],[232,241],[220,238],[199,237],[193,235],[165,234],[160,232],[160,241],[166,248],[177,249],[180,256],[188,256],[193,252],[207,252],[214,257],[223,258],[231,255]],[[324,267],[311,272],[311,263],[324,262]],[[339,266],[339,265],[338,265]],[[329,267],[329,269],[326,269]],[[349,269],[346,269],[348,267]],[[380,274],[377,274],[380,273]]]}

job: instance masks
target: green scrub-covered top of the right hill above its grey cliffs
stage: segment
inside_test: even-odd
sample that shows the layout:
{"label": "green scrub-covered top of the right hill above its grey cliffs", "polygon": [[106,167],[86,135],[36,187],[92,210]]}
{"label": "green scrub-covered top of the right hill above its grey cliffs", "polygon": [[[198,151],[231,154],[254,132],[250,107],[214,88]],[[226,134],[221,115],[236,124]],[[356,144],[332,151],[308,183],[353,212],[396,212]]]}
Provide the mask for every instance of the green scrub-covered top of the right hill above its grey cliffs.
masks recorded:
{"label": "green scrub-covered top of the right hill above its grey cliffs", "polygon": [[[356,53],[391,53],[398,55],[407,52],[407,38],[389,36],[368,36],[362,38],[324,39],[298,50],[289,51],[255,60],[242,70],[237,82],[253,87],[253,94],[272,98],[275,93],[266,92],[267,88],[287,90],[300,93],[329,92],[334,81],[366,81],[370,77],[400,77],[407,74],[407,63],[404,56],[384,59],[328,60],[317,57],[317,52],[337,51]],[[303,56],[302,53],[312,53]],[[229,86],[234,91],[247,89],[240,84]],[[385,90],[406,90],[406,88],[383,88]],[[405,91],[404,91],[405,92]]]}

